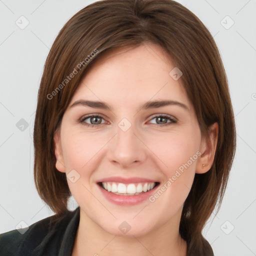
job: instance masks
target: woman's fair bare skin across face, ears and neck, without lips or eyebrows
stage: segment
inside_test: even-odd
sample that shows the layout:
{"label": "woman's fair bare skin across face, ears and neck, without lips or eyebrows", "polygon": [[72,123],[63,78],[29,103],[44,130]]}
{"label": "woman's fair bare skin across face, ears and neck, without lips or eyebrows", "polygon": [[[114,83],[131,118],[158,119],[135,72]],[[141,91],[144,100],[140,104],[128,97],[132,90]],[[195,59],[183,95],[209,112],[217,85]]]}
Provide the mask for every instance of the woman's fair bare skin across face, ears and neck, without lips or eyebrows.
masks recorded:
{"label": "woman's fair bare skin across face, ears and neck, without lips or eyebrows", "polygon": [[[213,162],[218,125],[209,127],[207,142],[181,79],[169,75],[173,67],[153,43],[115,50],[93,63],[74,93],[54,136],[56,168],[66,174],[75,169],[80,175],[74,183],[67,178],[80,206],[72,256],[186,255],[186,242],[178,232],[182,206],[194,174],[208,171]],[[70,107],[79,99],[104,101],[112,110]],[[140,109],[148,100],[163,99],[181,102],[187,109]],[[83,125],[93,123],[92,118],[79,122],[87,114],[101,114],[96,120],[101,124]],[[157,125],[156,114],[176,122],[158,118]],[[123,118],[131,124],[125,132],[118,127]],[[96,184],[109,176],[146,177],[158,180],[161,187],[196,152],[200,156],[154,202],[116,205]],[[131,226],[126,234],[118,228],[123,221]]]}

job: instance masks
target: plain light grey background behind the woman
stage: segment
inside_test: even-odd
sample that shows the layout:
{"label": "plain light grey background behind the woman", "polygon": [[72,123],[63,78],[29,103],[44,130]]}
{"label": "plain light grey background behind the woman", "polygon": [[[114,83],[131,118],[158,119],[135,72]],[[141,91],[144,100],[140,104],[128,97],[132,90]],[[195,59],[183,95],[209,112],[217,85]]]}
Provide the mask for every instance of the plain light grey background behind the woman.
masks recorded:
{"label": "plain light grey background behind the woman", "polygon": [[[237,151],[224,200],[204,235],[216,256],[256,255],[256,1],[178,1],[214,36],[226,69],[237,128]],[[0,0],[0,233],[15,229],[21,220],[30,225],[53,214],[33,182],[37,90],[58,31],[91,2]],[[29,24],[21,29],[26,19]],[[69,208],[76,205],[71,200]]]}

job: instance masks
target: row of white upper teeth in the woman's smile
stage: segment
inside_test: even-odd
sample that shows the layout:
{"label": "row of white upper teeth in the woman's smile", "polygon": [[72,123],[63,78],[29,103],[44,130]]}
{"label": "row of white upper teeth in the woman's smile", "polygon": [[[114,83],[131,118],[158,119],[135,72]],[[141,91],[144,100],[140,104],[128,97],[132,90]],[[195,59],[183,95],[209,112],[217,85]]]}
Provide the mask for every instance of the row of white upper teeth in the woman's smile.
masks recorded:
{"label": "row of white upper teeth in the woman's smile", "polygon": [[115,182],[102,182],[103,188],[105,190],[122,195],[134,195],[141,192],[146,192],[151,190],[155,186],[155,182],[152,183],[115,183]]}

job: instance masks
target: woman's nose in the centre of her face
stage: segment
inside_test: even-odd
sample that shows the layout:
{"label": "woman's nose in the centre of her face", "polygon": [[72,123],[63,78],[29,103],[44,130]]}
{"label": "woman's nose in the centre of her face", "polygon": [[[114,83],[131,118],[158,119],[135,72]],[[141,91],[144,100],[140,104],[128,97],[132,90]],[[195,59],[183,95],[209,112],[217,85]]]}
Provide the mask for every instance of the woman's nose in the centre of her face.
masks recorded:
{"label": "woman's nose in the centre of her face", "polygon": [[134,125],[126,131],[120,127],[117,126],[116,134],[109,144],[108,160],[120,164],[122,168],[143,162],[146,159],[146,146],[142,136],[134,129]]}

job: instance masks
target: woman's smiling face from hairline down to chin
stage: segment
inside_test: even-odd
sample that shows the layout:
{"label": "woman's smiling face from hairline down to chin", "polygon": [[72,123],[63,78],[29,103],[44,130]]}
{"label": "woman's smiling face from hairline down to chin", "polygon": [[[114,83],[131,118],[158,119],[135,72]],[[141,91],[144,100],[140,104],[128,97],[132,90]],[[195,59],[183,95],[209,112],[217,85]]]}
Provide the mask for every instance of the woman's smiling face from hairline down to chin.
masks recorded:
{"label": "woman's smiling face from hairline down to chin", "polygon": [[173,68],[155,44],[106,55],[81,81],[55,134],[56,167],[81,217],[108,233],[177,227],[195,172],[206,171],[206,144]]}

